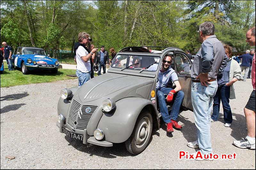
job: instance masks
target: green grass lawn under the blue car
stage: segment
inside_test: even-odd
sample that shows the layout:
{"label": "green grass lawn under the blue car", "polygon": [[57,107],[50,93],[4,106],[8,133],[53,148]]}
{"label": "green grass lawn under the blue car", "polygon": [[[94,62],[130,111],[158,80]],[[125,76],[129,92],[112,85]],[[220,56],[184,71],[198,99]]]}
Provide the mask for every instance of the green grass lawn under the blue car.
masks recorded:
{"label": "green grass lawn under the blue car", "polygon": [[77,78],[69,77],[67,76],[67,74],[76,74],[76,70],[59,69],[58,73],[51,73],[51,71],[35,70],[30,71],[28,75],[24,75],[19,68],[16,68],[13,71],[8,71],[7,64],[4,61],[4,71],[3,74],[1,74],[0,76],[0,87],[45,83]]}

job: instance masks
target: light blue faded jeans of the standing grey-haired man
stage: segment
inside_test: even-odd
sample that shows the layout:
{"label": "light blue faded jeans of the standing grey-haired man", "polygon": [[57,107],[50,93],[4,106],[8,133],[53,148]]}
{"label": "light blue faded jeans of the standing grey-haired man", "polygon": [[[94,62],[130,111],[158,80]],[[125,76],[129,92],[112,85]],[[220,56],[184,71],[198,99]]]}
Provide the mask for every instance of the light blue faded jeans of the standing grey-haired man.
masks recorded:
{"label": "light blue faded jeans of the standing grey-haired man", "polygon": [[213,97],[217,92],[217,88],[217,81],[212,81],[208,87],[201,85],[201,83],[192,82],[191,101],[197,127],[197,141],[200,151],[204,154],[212,152],[211,111]]}

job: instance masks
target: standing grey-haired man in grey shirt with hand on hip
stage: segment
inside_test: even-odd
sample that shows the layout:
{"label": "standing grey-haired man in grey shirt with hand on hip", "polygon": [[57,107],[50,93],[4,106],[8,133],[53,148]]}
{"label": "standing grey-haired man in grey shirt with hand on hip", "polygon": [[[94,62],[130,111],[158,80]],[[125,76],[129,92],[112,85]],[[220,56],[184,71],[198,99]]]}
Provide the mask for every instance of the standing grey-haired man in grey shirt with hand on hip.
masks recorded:
{"label": "standing grey-haired man in grey shirt with hand on hip", "polygon": [[203,156],[203,159],[196,160],[213,160],[210,157],[212,153],[210,133],[212,101],[218,88],[217,75],[228,63],[223,45],[214,32],[215,27],[211,22],[204,22],[200,25],[198,33],[202,45],[191,68],[191,101],[197,127],[197,140],[189,142],[188,146],[200,148],[201,154],[209,156],[208,159],[207,156]]}

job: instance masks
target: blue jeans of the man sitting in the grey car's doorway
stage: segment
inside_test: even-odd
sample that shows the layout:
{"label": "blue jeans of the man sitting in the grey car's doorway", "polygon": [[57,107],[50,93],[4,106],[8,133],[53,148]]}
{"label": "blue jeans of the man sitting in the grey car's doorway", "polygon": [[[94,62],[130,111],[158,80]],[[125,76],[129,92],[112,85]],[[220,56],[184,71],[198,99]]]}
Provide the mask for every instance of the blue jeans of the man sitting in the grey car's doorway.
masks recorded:
{"label": "blue jeans of the man sitting in the grey car's doorway", "polygon": [[168,113],[168,109],[166,107],[166,103],[165,103],[165,96],[164,94],[167,94],[172,90],[172,88],[162,88],[162,89],[156,89],[156,98],[158,101],[158,105],[159,105],[159,109],[162,115],[162,118],[164,120],[165,123],[169,123],[171,122],[171,119],[174,121],[177,121],[177,117],[179,115],[179,111],[180,111],[180,106],[182,103],[182,100],[184,98],[184,92],[182,92],[181,90],[179,92],[176,92],[173,95],[173,105],[172,105],[172,110],[171,110],[171,114],[169,115]]}

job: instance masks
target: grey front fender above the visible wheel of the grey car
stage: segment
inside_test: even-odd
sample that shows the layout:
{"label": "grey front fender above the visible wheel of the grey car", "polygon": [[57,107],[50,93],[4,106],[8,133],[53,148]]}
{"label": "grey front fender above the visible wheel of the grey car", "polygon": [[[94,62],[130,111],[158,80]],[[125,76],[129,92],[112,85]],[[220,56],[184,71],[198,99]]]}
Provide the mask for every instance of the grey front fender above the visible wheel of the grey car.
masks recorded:
{"label": "grey front fender above the visible wheel of the grey car", "polygon": [[116,108],[102,115],[97,128],[104,132],[106,141],[122,143],[131,136],[141,110],[148,106],[155,116],[156,109],[150,100],[138,97],[121,99],[116,102]]}

